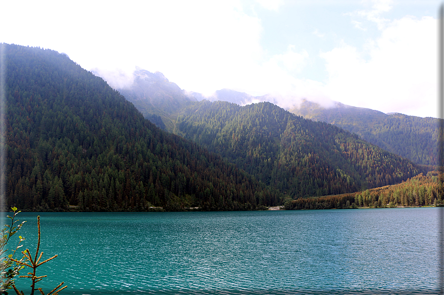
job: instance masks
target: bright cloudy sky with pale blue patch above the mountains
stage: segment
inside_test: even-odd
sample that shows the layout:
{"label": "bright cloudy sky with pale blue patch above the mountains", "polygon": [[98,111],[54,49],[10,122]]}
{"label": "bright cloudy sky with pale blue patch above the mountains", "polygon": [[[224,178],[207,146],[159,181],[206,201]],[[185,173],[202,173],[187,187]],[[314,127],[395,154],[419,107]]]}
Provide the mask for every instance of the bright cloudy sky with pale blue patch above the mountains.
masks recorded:
{"label": "bright cloudy sky with pale blue patch above the mountains", "polygon": [[66,53],[115,87],[135,67],[229,88],[437,117],[438,0],[3,1],[0,42]]}

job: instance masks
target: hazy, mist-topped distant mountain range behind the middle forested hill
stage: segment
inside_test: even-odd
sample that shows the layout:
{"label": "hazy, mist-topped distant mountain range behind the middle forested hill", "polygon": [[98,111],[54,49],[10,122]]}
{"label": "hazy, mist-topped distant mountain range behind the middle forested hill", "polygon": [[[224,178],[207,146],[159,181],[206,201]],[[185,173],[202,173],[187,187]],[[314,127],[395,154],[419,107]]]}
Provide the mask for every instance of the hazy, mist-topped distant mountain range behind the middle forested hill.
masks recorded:
{"label": "hazy, mist-topped distant mountain range behind the middle forested hill", "polygon": [[[142,77],[151,77],[155,83],[145,83]],[[317,101],[292,98],[279,94],[251,96],[230,89],[216,91],[210,96],[181,90],[160,74],[152,74],[138,69],[130,88],[119,90],[132,101],[145,117],[159,122],[159,116],[165,123],[165,129],[178,132],[175,121],[177,111],[192,101],[227,101],[238,105],[258,102],[271,102],[306,119],[334,124],[358,134],[363,140],[375,144],[390,152],[403,156],[421,165],[437,165],[437,119],[420,118],[399,113],[385,114],[368,108],[345,105],[329,99]],[[154,99],[147,99],[145,93],[151,93]],[[161,90],[159,90],[161,89]],[[155,95],[154,95],[155,94]],[[184,98],[186,96],[186,98]],[[158,99],[157,102],[155,99]],[[151,102],[152,101],[152,102]],[[161,105],[161,102],[169,103]],[[157,105],[158,107],[153,107]],[[171,105],[175,106],[172,109]],[[153,117],[154,116],[154,117]],[[160,123],[160,122],[159,122]],[[157,126],[161,127],[161,124]]]}

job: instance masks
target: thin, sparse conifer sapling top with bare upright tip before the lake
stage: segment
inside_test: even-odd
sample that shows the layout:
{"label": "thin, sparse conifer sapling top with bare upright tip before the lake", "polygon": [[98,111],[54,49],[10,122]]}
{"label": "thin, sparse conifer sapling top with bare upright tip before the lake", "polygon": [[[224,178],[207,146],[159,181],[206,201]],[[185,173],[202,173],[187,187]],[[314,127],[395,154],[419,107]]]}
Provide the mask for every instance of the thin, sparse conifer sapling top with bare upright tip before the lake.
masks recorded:
{"label": "thin, sparse conifer sapling top with bare upright tip before the lake", "polygon": [[[25,255],[25,257],[29,260],[30,264],[23,262],[23,261],[15,260],[13,258],[11,258],[11,260],[15,261],[16,263],[19,263],[23,266],[28,266],[28,267],[32,268],[33,272],[29,272],[27,276],[20,276],[20,278],[30,278],[32,280],[31,295],[34,295],[35,290],[39,290],[42,295],[45,295],[42,288],[36,288],[36,283],[41,281],[43,278],[45,278],[47,276],[39,276],[39,277],[36,276],[36,270],[37,270],[37,267],[48,262],[49,260],[54,259],[55,257],[57,257],[57,255],[54,255],[51,258],[48,258],[48,259],[39,263],[40,259],[42,258],[42,255],[43,255],[43,252],[40,252],[40,256],[38,256],[39,255],[39,248],[40,248],[40,216],[37,216],[37,228],[39,230],[39,241],[37,243],[37,250],[36,250],[36,255],[35,255],[34,259],[32,258],[31,252],[29,251],[29,249],[22,251],[23,255]],[[37,256],[38,256],[38,258],[37,258]],[[66,287],[68,287],[68,286],[64,286],[61,289],[58,289],[63,285],[63,283],[64,282],[61,282],[57,287],[55,287],[51,292],[49,292],[46,295],[51,295],[51,294],[57,295],[58,292],[65,289]],[[18,291],[14,284],[12,285],[12,288],[14,288],[15,293],[17,293],[17,295],[24,295],[23,291]]]}

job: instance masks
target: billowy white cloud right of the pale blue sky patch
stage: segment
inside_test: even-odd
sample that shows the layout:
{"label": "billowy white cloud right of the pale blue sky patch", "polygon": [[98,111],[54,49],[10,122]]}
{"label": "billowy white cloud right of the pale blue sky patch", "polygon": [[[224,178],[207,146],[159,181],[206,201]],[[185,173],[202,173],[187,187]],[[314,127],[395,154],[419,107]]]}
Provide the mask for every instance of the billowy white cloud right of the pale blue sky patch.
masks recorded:
{"label": "billowy white cloud right of the pale blue sky patch", "polygon": [[322,53],[325,91],[345,104],[436,116],[436,28],[432,17],[404,17],[388,24],[368,52],[343,44]]}

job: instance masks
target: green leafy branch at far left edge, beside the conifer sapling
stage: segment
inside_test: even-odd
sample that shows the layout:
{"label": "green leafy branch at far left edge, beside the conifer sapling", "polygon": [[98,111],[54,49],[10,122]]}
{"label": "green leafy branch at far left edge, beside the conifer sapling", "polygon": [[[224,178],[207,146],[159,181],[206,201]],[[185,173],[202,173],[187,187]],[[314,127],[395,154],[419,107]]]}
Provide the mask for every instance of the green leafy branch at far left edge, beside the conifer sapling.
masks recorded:
{"label": "green leafy branch at far left edge, beside the conifer sapling", "polygon": [[20,245],[21,242],[25,240],[22,236],[19,236],[19,241],[17,246],[10,254],[7,254],[6,252],[8,249],[5,249],[4,247],[7,245],[9,239],[17,233],[17,231],[23,226],[23,224],[26,221],[23,221],[17,225],[17,222],[19,220],[14,220],[16,215],[20,213],[21,211],[17,211],[16,207],[11,208],[13,211],[13,215],[7,216],[9,219],[11,219],[11,224],[5,224],[5,228],[1,229],[1,237],[0,237],[0,294],[8,294],[6,290],[11,289],[12,285],[14,284],[14,277],[19,274],[19,271],[24,268],[24,266],[21,264],[26,257],[23,256],[20,260],[13,259],[15,252],[23,245]]}

